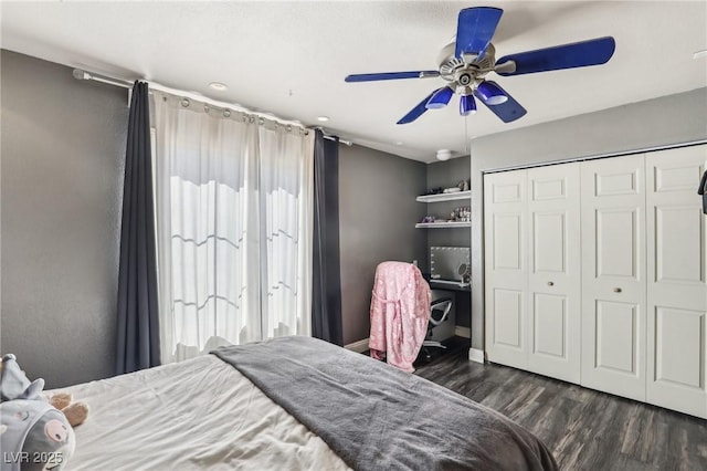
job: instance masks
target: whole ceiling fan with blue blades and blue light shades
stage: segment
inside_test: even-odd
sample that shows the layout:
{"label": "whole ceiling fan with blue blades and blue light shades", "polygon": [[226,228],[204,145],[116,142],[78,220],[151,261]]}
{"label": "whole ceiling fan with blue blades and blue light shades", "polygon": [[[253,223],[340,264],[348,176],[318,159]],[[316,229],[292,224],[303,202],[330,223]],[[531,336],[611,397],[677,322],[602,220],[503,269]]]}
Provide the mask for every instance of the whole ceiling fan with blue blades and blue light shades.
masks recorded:
{"label": "whole ceiling fan with blue blades and blue light shades", "polygon": [[605,36],[520,52],[496,60],[496,49],[490,40],[502,14],[502,9],[492,7],[474,7],[460,11],[456,38],[442,49],[436,71],[355,74],[348,75],[345,81],[374,82],[442,77],[449,82],[428,95],[400,118],[398,124],[412,123],[428,109],[443,108],[455,93],[460,95],[462,116],[476,112],[475,96],[504,123],[510,123],[523,117],[527,112],[500,85],[486,80],[489,72],[507,76],[585,67],[604,64],[614,53],[614,39]]}

